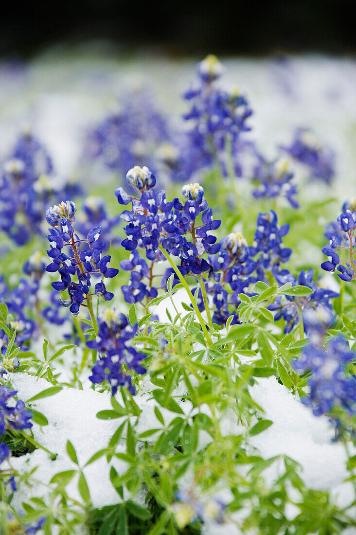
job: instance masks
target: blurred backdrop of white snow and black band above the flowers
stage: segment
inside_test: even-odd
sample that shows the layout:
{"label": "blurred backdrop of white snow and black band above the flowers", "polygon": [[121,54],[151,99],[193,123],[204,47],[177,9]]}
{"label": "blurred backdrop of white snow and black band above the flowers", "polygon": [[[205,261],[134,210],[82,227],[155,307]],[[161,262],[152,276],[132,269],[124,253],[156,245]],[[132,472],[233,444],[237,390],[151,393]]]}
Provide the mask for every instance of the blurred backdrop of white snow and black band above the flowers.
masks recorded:
{"label": "blurred backdrop of white snow and black band above the flowers", "polygon": [[251,139],[274,157],[296,128],[335,151],[337,194],[356,185],[354,0],[6,3],[0,21],[0,159],[23,129],[60,176],[103,180],[85,165],[88,132],[138,89],[178,129],[182,95],[208,53],[253,110]]}

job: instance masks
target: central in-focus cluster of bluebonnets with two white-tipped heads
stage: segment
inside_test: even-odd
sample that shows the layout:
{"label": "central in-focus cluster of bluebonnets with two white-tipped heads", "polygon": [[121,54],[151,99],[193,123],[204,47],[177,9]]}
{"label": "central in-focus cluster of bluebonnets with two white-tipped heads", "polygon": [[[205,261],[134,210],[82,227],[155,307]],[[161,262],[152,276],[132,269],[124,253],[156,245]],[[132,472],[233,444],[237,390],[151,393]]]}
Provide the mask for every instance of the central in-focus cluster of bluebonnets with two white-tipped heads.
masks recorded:
{"label": "central in-focus cluster of bluebonnets with two white-tipped heads", "polygon": [[[155,192],[152,189],[156,179],[147,167],[133,167],[127,172],[126,180],[137,191],[138,197],[128,195],[123,188],[115,191],[120,204],[132,203],[132,210],[124,210],[121,214],[127,223],[124,227],[127,237],[122,246],[128,251],[144,248],[150,261],[148,266],[137,253],[132,253],[129,261],[120,264],[122,269],[131,271],[129,284],[122,288],[126,302],[142,302],[145,297],[156,297],[153,264],[165,259],[160,247],[179,258],[178,269],[183,276],[197,277],[211,271],[212,266],[203,255],[213,255],[219,250],[216,236],[211,232],[221,221],[213,219],[203,188],[199,184],[186,185],[182,189],[184,202],[178,197],[167,202],[163,190]],[[196,225],[198,221],[201,224]],[[163,281],[172,272],[172,269],[166,270]]]}

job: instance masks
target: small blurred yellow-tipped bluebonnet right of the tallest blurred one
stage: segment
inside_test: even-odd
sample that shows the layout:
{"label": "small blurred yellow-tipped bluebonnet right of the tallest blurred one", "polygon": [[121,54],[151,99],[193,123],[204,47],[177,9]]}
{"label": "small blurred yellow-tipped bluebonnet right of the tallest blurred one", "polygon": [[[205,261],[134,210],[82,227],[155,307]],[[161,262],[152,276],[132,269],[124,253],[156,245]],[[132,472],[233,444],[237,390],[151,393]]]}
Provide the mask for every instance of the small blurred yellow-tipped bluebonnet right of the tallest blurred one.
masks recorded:
{"label": "small blurred yellow-tipped bluebonnet right of the tallest blurred one", "polygon": [[253,181],[259,182],[260,185],[253,190],[252,195],[255,198],[285,197],[292,208],[299,208],[295,198],[298,193],[297,187],[291,182],[293,176],[286,159],[268,163],[263,157],[260,157],[253,173]]}

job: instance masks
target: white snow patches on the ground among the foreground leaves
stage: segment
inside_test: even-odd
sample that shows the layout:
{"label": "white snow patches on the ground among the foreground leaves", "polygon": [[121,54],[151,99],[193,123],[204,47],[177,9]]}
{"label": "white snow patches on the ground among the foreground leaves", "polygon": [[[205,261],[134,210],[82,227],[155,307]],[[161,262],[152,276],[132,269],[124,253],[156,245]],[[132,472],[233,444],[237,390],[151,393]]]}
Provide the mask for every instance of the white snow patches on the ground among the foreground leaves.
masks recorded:
{"label": "white snow patches on the ground among the foreground leaves", "polygon": [[[27,400],[52,385],[44,379],[36,379],[26,373],[12,374],[12,385],[18,390],[18,396]],[[278,384],[274,377],[260,378],[258,384],[251,388],[253,399],[264,409],[264,417],[274,423],[262,433],[251,438],[250,444],[265,458],[284,454],[292,457],[301,465],[302,477],[310,488],[332,490],[335,498],[346,505],[353,499],[352,485],[343,483],[347,476],[346,455],[342,444],[331,442],[333,430],[326,418],[317,418],[304,407],[287,389]],[[142,413],[139,418],[139,430],[143,432],[155,427],[154,402],[148,394],[135,397]],[[179,399],[177,398],[177,401]],[[186,403],[181,404],[186,410]],[[35,440],[50,451],[57,453],[55,461],[43,450],[35,450],[32,454],[12,459],[13,467],[27,471],[37,467],[36,478],[47,484],[55,473],[75,469],[75,465],[66,453],[66,442],[70,440],[77,452],[80,465],[84,465],[98,450],[107,447],[112,434],[119,426],[121,419],[101,420],[96,418],[97,412],[110,409],[110,395],[94,392],[89,388],[77,390],[63,388],[62,392],[34,402],[33,407],[42,412],[49,425],[39,427],[34,424]],[[162,409],[166,421],[175,415]],[[239,433],[236,421],[226,419],[226,432]],[[206,433],[202,432],[204,435]],[[201,444],[206,445],[206,436],[201,437]],[[125,446],[122,446],[124,452]],[[120,446],[118,446],[120,450]],[[118,473],[126,470],[124,461],[114,459],[111,464]],[[117,493],[109,479],[109,465],[105,457],[93,462],[85,468],[90,495],[93,505],[102,507],[117,502]],[[275,469],[269,476],[275,476]],[[69,495],[78,498],[77,480],[74,479],[67,488]],[[20,505],[28,499],[28,492],[41,493],[41,489],[28,491],[24,487],[16,493],[14,500]]]}

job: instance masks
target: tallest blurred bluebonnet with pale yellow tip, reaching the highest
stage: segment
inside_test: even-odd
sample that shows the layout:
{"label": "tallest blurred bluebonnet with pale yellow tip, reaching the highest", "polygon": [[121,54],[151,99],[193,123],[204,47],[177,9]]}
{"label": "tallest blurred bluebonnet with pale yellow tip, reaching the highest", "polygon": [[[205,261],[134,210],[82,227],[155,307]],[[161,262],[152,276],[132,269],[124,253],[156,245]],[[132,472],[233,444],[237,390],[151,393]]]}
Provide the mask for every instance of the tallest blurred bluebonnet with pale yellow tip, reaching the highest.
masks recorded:
{"label": "tallest blurred bluebonnet with pale yellow tip, reaching the highest", "polygon": [[252,111],[244,95],[238,90],[224,91],[215,81],[223,66],[215,56],[208,56],[198,66],[199,85],[186,91],[184,98],[191,109],[184,115],[192,127],[187,132],[184,154],[184,176],[190,178],[196,171],[210,169],[218,163],[228,175],[227,159],[232,156],[234,172],[241,174],[239,154],[240,135],[249,131],[247,119]]}

